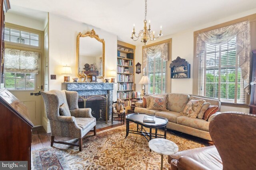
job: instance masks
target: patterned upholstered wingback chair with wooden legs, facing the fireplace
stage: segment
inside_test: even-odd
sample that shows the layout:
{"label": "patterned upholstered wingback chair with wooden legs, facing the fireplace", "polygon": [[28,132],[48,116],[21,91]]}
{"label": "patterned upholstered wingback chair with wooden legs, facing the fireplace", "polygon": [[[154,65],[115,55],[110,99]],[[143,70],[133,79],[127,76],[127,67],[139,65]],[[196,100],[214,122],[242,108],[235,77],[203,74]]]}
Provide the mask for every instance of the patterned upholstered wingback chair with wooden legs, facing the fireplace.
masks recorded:
{"label": "patterned upholstered wingback chair with wooden legs, facing the fireplace", "polygon": [[[50,90],[41,92],[46,114],[51,127],[51,146],[53,143],[79,146],[82,151],[83,137],[92,131],[96,135],[96,119],[92,117],[90,108],[78,108],[78,93],[66,90]],[[79,144],[54,141],[54,136],[78,138]]]}

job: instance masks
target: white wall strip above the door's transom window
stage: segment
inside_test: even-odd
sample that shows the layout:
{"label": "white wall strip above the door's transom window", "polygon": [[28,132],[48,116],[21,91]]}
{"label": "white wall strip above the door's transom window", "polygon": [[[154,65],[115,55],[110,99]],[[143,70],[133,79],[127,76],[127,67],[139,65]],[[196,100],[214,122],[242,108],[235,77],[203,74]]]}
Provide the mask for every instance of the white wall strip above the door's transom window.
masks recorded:
{"label": "white wall strip above the door's transom window", "polygon": [[12,14],[10,12],[6,12],[5,14],[5,21],[8,23],[13,23],[16,25],[21,25],[24,27],[29,27],[33,29],[38,29],[40,31],[44,31],[45,28],[45,21],[36,20],[33,18],[28,18],[22,15]]}

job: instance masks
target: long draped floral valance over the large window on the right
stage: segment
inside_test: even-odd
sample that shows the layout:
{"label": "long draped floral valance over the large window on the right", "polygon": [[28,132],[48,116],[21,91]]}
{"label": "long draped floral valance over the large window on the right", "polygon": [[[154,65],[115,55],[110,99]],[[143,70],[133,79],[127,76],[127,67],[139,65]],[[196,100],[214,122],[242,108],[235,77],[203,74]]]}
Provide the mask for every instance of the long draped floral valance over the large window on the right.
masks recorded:
{"label": "long draped floral valance over the large window on the right", "polygon": [[250,92],[250,21],[243,21],[219,29],[203,32],[197,36],[196,53],[204,52],[206,43],[222,45],[236,37],[236,56],[239,57],[239,67],[242,70],[244,90]]}

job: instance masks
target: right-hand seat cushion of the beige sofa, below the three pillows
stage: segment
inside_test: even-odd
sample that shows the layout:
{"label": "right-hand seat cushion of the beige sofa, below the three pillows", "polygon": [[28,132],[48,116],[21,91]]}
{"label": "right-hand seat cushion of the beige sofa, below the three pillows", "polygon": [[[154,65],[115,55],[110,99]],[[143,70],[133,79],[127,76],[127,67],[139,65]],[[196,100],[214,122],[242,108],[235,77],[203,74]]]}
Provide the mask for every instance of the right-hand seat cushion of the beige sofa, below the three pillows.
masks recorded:
{"label": "right-hand seat cushion of the beige sofa, below the three pillows", "polygon": [[187,116],[179,116],[179,117],[177,117],[176,121],[180,125],[192,127],[192,128],[199,129],[202,131],[209,131],[209,123],[210,122],[208,122],[204,119],[190,118]]}

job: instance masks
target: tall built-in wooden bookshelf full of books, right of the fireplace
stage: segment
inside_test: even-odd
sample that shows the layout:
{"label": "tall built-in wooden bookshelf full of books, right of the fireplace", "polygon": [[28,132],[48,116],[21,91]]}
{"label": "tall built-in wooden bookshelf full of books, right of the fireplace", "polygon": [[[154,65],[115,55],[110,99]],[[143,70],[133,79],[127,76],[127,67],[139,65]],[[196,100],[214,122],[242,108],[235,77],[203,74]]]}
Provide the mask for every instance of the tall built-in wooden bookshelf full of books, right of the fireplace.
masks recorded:
{"label": "tall built-in wooden bookshelf full of books, right of the fireplace", "polygon": [[135,91],[135,45],[117,41],[117,97],[124,101],[126,112],[131,109]]}

